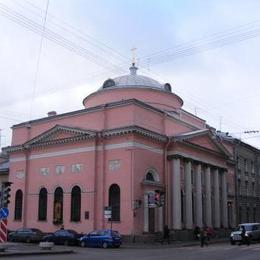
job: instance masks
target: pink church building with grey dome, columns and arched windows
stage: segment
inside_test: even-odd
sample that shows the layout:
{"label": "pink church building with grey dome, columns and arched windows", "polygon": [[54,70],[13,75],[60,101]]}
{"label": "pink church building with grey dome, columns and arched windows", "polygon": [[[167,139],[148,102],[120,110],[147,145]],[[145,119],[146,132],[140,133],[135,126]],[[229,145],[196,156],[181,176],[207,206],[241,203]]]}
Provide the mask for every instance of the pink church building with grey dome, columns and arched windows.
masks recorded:
{"label": "pink church building with grey dome, columns and arched windows", "polygon": [[133,64],[83,105],[12,127],[9,229],[85,233],[112,221],[130,235],[234,225],[232,150],[182,109],[169,83]]}

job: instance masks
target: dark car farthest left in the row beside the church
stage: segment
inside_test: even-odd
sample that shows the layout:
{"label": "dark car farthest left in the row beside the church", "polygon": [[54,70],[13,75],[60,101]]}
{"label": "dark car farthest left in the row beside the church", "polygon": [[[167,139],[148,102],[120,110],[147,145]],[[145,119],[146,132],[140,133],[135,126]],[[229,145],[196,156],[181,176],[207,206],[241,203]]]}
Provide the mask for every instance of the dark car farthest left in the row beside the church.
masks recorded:
{"label": "dark car farthest left in the row beside the church", "polygon": [[39,242],[44,233],[37,228],[19,228],[8,234],[8,240],[12,242]]}

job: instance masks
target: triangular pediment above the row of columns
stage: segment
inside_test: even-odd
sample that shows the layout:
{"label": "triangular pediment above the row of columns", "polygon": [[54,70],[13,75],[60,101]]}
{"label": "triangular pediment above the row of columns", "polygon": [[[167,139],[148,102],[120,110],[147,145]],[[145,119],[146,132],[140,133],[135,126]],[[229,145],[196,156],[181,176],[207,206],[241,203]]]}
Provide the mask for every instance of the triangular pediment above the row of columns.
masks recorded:
{"label": "triangular pediment above the row of columns", "polygon": [[216,140],[215,136],[208,129],[196,130],[172,137],[174,141],[194,145],[198,148],[212,152],[221,153],[227,157],[232,155],[229,151]]}

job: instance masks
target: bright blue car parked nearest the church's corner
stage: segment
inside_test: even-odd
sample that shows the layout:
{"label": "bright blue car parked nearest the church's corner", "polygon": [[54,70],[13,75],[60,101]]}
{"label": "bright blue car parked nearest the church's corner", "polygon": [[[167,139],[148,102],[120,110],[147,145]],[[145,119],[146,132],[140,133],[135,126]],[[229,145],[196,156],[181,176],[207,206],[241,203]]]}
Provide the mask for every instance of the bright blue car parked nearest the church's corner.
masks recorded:
{"label": "bright blue car parked nearest the church's corner", "polygon": [[120,247],[121,235],[111,229],[94,230],[79,239],[81,247]]}

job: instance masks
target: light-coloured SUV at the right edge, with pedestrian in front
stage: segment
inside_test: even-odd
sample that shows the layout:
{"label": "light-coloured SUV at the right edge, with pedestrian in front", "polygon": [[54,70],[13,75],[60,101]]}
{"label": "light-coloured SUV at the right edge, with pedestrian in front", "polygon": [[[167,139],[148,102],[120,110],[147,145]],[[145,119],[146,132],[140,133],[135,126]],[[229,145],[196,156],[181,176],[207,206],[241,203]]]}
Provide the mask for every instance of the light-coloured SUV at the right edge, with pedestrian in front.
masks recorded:
{"label": "light-coloured SUV at the right edge, with pedestrian in front", "polygon": [[236,242],[241,242],[241,232],[242,227],[245,227],[245,236],[249,241],[258,240],[260,241],[260,223],[243,223],[239,224],[238,229],[236,231],[231,232],[230,234],[230,243],[234,245]]}

